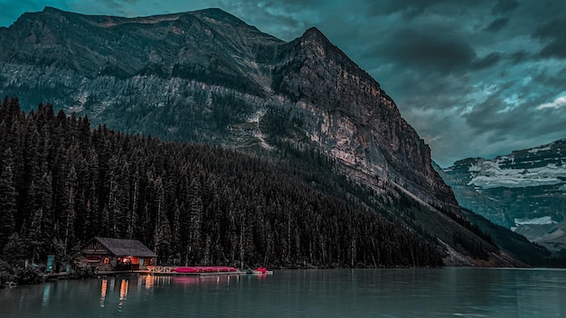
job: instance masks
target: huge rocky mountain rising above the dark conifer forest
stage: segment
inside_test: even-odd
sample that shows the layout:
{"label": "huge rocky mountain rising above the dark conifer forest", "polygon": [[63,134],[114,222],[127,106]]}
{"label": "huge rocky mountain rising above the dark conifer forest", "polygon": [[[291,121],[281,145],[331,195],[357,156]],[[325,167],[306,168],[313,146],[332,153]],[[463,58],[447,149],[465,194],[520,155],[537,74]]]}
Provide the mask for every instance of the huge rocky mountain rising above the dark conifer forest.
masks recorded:
{"label": "huge rocky mountain rising above the dark conifer forest", "polygon": [[49,102],[122,132],[258,155],[417,233],[448,265],[519,264],[467,221],[379,83],[316,28],[284,42],[219,9],[47,7],[0,42],[0,94],[24,108]]}

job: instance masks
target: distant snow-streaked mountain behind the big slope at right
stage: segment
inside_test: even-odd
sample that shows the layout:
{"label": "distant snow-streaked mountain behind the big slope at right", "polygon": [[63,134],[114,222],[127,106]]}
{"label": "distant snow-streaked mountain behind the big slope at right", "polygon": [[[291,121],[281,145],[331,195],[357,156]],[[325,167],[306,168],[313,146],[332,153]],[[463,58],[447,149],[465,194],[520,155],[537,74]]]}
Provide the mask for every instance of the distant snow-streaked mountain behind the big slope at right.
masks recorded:
{"label": "distant snow-streaked mountain behind the big slope at right", "polygon": [[553,252],[566,252],[566,139],[443,170],[458,202]]}

